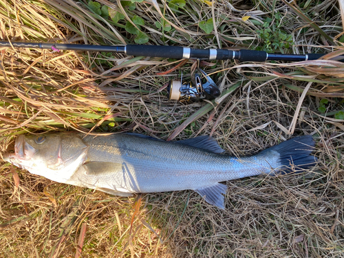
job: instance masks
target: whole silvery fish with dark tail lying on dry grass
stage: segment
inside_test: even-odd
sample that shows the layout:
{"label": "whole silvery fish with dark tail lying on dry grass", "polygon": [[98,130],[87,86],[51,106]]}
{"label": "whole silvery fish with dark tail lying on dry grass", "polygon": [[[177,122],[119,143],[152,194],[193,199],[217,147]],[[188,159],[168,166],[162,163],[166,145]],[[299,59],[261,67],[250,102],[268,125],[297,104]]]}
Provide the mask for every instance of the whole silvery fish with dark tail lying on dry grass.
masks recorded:
{"label": "whole silvery fish with dark tail lying on dry grass", "polygon": [[214,138],[167,142],[138,133],[19,135],[3,160],[55,182],[119,196],[193,190],[224,209],[228,180],[300,173],[315,166],[312,136],[299,136],[256,155],[224,154]]}

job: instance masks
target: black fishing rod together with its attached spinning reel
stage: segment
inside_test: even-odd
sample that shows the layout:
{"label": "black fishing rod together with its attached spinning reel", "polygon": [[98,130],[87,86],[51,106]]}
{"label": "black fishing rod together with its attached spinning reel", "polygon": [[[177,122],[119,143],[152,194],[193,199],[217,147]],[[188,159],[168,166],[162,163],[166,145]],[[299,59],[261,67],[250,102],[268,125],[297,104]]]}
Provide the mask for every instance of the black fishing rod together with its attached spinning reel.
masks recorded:
{"label": "black fishing rod together with its attached spinning reel", "polygon": [[[83,45],[83,44],[61,44],[61,43],[30,43],[0,41],[0,47],[17,48],[39,48],[43,50],[75,50],[90,52],[115,52],[128,56],[151,56],[175,59],[196,59],[197,70],[200,74],[192,74],[190,82],[171,80],[167,87],[170,100],[186,102],[197,102],[202,99],[213,100],[220,96],[221,92],[216,83],[200,69],[200,60],[238,60],[240,62],[266,62],[266,61],[308,61],[316,60],[325,54],[270,54],[257,50],[217,50],[217,49],[194,49],[190,47],[178,47],[168,45]],[[344,56],[341,60],[344,62]]]}

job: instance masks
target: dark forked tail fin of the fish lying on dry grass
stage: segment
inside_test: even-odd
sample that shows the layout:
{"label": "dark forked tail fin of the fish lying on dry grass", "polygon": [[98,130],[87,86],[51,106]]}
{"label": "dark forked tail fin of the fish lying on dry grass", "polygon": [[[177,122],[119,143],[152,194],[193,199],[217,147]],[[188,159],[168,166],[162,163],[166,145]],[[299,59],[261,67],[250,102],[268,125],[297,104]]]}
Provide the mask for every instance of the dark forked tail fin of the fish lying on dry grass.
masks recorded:
{"label": "dark forked tail fin of the fish lying on dry grass", "polygon": [[[315,142],[312,136],[300,136],[282,142],[279,145],[266,149],[264,152],[276,151],[279,153],[279,166],[277,173],[300,173],[304,169],[310,169],[316,164],[316,157],[310,155],[314,151]],[[266,153],[268,154],[268,153]]]}

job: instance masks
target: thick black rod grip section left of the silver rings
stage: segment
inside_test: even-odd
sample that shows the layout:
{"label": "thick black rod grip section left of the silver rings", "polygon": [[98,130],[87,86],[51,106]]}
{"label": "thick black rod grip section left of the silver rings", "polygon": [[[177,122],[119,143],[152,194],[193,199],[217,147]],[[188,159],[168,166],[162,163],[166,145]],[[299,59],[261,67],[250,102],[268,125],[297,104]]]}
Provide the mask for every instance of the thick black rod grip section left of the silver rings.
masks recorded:
{"label": "thick black rod grip section left of the silver rings", "polygon": [[183,58],[183,47],[169,45],[127,45],[129,56],[151,56],[164,58]]}

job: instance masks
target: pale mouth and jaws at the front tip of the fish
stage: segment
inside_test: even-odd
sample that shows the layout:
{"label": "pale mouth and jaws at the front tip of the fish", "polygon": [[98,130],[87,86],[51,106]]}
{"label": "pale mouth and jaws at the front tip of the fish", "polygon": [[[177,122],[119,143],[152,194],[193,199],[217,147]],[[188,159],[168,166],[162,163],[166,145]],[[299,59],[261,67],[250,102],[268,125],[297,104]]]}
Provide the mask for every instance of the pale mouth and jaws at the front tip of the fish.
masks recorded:
{"label": "pale mouth and jaws at the front tip of the fish", "polygon": [[21,161],[31,160],[36,152],[37,150],[25,141],[25,136],[20,135],[14,144],[14,153],[4,154],[3,160],[22,168]]}

